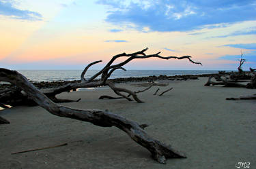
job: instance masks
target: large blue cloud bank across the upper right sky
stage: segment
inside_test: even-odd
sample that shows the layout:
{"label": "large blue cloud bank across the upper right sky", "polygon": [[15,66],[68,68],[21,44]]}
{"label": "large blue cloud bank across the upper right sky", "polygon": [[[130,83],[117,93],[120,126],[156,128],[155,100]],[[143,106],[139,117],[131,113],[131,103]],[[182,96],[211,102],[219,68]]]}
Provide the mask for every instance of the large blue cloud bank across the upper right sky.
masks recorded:
{"label": "large blue cloud bank across the upper right sky", "polygon": [[[111,7],[106,17],[113,24],[133,24],[143,31],[192,31],[214,24],[230,24],[245,20],[256,20],[255,0],[144,0],[109,1],[98,3]],[[225,24],[224,24],[225,23]],[[216,26],[214,26],[216,27]]]}

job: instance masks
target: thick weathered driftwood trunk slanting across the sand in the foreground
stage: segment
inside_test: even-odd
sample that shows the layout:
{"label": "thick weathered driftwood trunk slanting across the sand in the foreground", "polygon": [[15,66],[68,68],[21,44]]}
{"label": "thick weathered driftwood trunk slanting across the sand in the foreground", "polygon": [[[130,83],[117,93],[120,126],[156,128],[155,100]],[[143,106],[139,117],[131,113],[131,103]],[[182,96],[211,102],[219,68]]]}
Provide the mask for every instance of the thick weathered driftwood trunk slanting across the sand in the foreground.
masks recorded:
{"label": "thick weathered driftwood trunk slanting across the sand in the foreground", "polygon": [[115,126],[120,130],[123,130],[139,145],[145,147],[152,157],[159,163],[165,164],[167,158],[184,158],[186,157],[182,153],[179,153],[160,141],[149,136],[143,128],[145,124],[139,125],[135,121],[131,121],[122,116],[115,115],[109,111],[102,111],[96,109],[71,109],[69,107],[63,107],[57,105],[51,99],[49,99],[40,90],[35,88],[26,77],[18,73],[17,71],[10,71],[8,69],[0,69],[0,81],[8,81],[15,84],[18,88],[21,88],[26,94],[32,98],[40,107],[46,109],[49,113],[60,117],[68,117],[71,119],[77,119],[81,121],[87,121],[91,124],[101,127]]}

